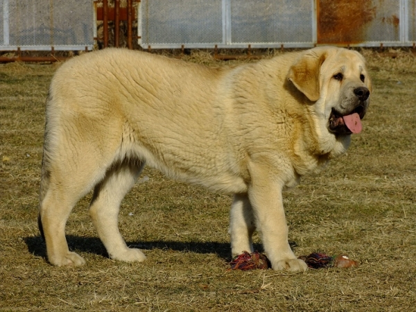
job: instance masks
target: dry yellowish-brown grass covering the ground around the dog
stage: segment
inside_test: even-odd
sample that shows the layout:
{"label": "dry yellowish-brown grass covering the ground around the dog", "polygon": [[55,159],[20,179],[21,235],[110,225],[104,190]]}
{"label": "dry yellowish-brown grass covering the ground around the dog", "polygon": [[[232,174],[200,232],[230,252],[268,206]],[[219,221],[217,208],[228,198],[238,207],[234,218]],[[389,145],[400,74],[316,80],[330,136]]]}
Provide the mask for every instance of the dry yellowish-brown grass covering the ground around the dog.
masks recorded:
{"label": "dry yellowish-brown grass covering the ground around the dog", "polygon": [[[295,275],[228,271],[230,197],[150,169],[120,216],[148,261],[107,259],[87,196],[67,225],[87,265],[49,266],[36,216],[44,101],[59,65],[0,65],[0,310],[415,311],[415,57],[363,53],[374,82],[364,132],[284,200],[296,254],[347,253],[361,266]],[[187,60],[224,64],[204,53]]]}

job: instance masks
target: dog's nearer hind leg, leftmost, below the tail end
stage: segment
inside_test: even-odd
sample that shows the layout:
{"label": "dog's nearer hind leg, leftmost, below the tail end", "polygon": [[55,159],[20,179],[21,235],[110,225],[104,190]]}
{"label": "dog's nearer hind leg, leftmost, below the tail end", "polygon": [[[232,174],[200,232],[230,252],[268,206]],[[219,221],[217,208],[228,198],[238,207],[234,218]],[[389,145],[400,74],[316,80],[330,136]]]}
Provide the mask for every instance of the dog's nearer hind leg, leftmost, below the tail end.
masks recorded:
{"label": "dog's nearer hind leg, leftmost, below the tail end", "polygon": [[[47,151],[44,152],[45,155]],[[46,241],[48,260],[55,266],[81,266],[85,260],[70,252],[65,225],[73,206],[102,179],[105,168],[95,162],[70,162],[74,155],[60,162],[44,160],[40,191],[39,226]]]}

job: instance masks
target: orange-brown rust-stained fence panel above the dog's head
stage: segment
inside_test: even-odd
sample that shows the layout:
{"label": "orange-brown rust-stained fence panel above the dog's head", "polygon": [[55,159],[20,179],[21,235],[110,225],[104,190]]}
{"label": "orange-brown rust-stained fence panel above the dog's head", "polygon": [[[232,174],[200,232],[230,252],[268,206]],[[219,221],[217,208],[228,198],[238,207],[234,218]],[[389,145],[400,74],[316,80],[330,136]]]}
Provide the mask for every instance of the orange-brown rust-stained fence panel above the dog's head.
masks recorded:
{"label": "orange-brown rust-stained fence panel above the dog's head", "polygon": [[318,44],[401,41],[401,1],[317,0],[317,15]]}

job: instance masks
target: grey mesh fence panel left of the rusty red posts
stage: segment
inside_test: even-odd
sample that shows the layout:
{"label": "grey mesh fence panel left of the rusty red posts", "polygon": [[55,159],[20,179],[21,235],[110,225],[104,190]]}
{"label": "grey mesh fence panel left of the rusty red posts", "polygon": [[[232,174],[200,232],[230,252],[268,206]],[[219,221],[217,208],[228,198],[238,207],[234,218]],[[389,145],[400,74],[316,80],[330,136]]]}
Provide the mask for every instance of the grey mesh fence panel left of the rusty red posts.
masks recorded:
{"label": "grey mesh fence panel left of the rusty red posts", "polygon": [[0,0],[8,42],[0,49],[92,49],[94,20],[91,1]]}

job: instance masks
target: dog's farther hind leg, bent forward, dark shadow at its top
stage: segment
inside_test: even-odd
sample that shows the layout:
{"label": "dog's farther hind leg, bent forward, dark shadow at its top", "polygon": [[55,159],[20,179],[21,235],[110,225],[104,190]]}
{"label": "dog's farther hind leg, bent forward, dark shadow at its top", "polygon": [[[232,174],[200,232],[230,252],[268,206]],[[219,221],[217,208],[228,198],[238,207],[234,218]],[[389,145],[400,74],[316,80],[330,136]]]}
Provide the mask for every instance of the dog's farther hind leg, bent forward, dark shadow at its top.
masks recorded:
{"label": "dog's farther hind leg, bent forward, dark shadow at its top", "polygon": [[96,231],[111,259],[144,261],[146,256],[138,249],[128,248],[119,232],[118,216],[121,200],[137,180],[144,163],[122,162],[107,171],[104,180],[94,189],[89,207]]}

